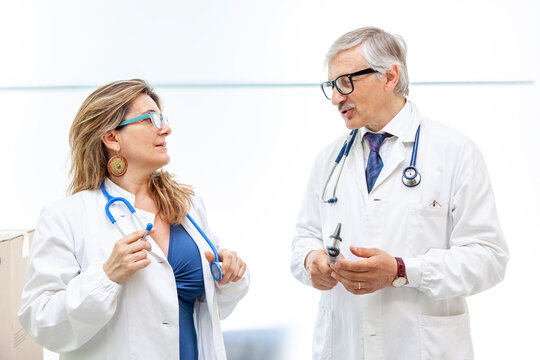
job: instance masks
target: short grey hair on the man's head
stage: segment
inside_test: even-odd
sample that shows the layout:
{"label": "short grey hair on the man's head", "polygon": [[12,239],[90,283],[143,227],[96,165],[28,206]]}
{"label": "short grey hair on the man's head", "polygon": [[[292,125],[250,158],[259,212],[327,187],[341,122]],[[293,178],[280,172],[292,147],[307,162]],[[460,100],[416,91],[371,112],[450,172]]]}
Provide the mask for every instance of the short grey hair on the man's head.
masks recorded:
{"label": "short grey hair on the man's head", "polygon": [[[392,35],[376,27],[363,27],[353,30],[334,41],[326,54],[327,65],[340,51],[360,45],[366,65],[380,74],[396,64],[399,80],[394,92],[401,96],[409,95],[409,74],[407,71],[407,44],[399,35]],[[377,74],[381,76],[380,74]]]}

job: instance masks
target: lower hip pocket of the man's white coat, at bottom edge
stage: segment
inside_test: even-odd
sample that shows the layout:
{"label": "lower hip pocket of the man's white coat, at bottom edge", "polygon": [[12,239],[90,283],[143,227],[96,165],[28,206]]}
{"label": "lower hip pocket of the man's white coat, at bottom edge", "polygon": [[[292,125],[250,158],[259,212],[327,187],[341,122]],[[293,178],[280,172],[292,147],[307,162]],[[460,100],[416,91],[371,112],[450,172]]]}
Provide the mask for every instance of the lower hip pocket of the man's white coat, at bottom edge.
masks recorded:
{"label": "lower hip pocket of the man's white coat, at bottom edge", "polygon": [[469,314],[422,315],[420,319],[422,360],[474,359]]}

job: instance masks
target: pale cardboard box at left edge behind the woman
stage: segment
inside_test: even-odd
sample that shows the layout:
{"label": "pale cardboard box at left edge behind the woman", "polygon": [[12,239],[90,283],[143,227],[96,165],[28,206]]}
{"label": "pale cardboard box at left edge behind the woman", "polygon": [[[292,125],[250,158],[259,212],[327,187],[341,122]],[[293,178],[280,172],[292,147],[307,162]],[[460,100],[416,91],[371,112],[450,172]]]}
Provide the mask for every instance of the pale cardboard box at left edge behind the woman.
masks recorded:
{"label": "pale cardboard box at left edge behind the woman", "polygon": [[0,359],[42,360],[43,348],[17,318],[26,282],[26,261],[34,231],[0,230]]}

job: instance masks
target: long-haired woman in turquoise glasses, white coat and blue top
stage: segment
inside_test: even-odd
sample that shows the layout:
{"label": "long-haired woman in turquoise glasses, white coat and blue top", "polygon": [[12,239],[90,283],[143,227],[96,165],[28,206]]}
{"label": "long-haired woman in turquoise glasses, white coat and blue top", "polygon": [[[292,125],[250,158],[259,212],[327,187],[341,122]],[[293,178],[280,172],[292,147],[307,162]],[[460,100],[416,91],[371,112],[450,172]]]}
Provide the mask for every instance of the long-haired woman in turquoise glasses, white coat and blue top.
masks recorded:
{"label": "long-haired woman in turquoise glasses, white coat and blue top", "polygon": [[[100,87],[75,117],[73,195],[42,211],[19,311],[28,334],[61,359],[226,358],[220,319],[249,276],[235,252],[220,249],[222,278],[213,279],[202,233],[217,238],[204,204],[160,170],[170,133],[160,99],[138,79]],[[108,196],[136,209],[110,205],[120,229],[105,212]],[[146,240],[136,216],[153,224]]]}

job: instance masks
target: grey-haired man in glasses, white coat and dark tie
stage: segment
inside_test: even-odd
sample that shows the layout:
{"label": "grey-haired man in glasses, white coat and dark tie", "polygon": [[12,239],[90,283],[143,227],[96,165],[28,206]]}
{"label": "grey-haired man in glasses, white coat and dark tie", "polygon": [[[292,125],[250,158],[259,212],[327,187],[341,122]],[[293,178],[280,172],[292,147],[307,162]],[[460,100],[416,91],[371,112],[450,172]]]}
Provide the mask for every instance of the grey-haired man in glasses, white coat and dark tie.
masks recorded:
{"label": "grey-haired man in glasses, white coat and dark tie", "polygon": [[[315,160],[292,244],[293,275],[322,290],[313,359],[472,359],[465,298],[504,277],[484,160],[408,100],[406,51],[401,37],[370,27],[327,54],[324,95],[359,130],[327,185],[347,137]],[[420,176],[407,180],[415,143]],[[338,223],[341,255],[329,266]]]}

